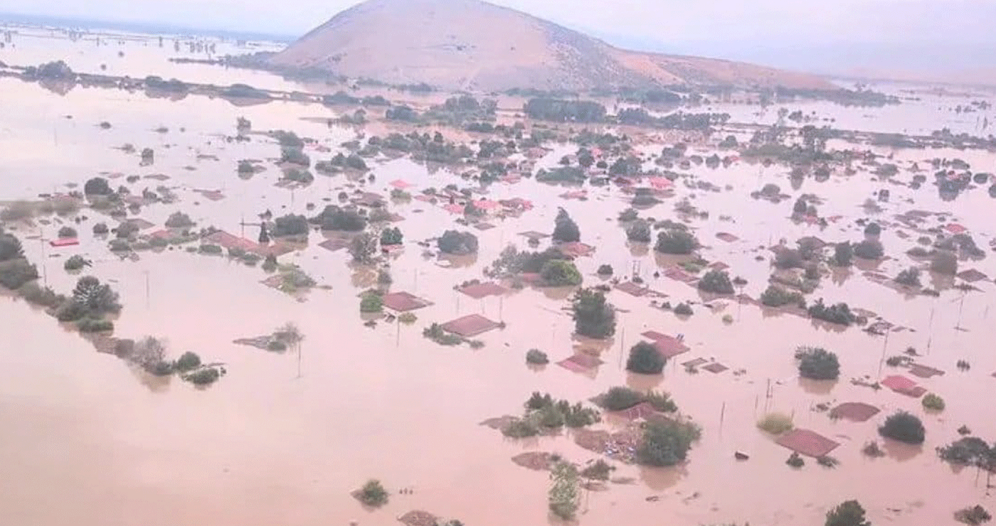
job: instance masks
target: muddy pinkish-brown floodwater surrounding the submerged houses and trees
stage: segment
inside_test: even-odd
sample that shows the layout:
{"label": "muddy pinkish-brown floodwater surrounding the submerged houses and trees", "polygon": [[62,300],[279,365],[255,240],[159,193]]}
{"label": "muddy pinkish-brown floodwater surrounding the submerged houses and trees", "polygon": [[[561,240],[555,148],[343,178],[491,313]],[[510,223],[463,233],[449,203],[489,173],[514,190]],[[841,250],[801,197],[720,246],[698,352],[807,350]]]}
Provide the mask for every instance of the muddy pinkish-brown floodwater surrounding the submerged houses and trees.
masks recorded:
{"label": "muddy pinkish-brown floodwater surrounding the submerged houses and trees", "polygon": [[[53,42],[74,50],[68,55],[79,51],[88,57],[91,50],[85,42]],[[123,46],[127,51],[122,61],[130,64],[128,71],[148,67],[133,49],[143,44]],[[20,46],[3,53],[2,59],[11,64],[39,62],[37,54],[18,55]],[[81,60],[99,64],[103,59]],[[162,61],[160,66],[170,64]],[[248,75],[200,68],[206,69],[203,78],[197,77],[199,68],[160,76],[224,85],[243,82],[235,79]],[[173,102],[99,88],[75,88],[58,95],[11,79],[0,80],[0,89],[12,102],[0,115],[4,158],[0,200],[65,192],[67,183],[82,185],[101,173],[165,174],[170,179],[161,183],[142,179],[127,184],[120,177],[112,185],[124,184],[132,192],[160,184],[173,188],[180,198],[177,204],[151,205],[137,216],[156,225],[180,210],[198,227],[214,225],[239,234],[241,223],[253,222],[264,210],[278,216],[313,215],[317,212],[306,211],[308,203],[320,210],[325,200],[335,202],[341,190],[356,186],[343,175],[319,175],[308,188],[277,188],[280,171],[272,162],[264,162],[267,170],[249,180],[237,177],[238,160],[279,156],[279,147],[263,135],[252,135],[245,143],[225,142],[223,137],[233,133],[238,116],[252,120],[255,130],[292,129],[331,148],[332,153],[309,151],[313,161],[331,157],[340,143],[354,138],[357,130],[320,123],[338,113],[319,105],[271,102],[236,107],[223,99],[188,96]],[[827,106],[826,115],[839,111]],[[98,127],[102,120],[112,127]],[[919,125],[935,127],[932,121]],[[159,126],[168,131],[154,131]],[[152,147],[155,163],[139,166],[137,154],[115,149],[124,143],[138,150]],[[659,151],[662,146],[645,148]],[[712,152],[704,144],[693,148]],[[539,164],[552,165],[572,149],[557,147]],[[892,161],[900,166],[894,179],[908,181],[909,163],[919,161],[924,166],[923,161],[932,157],[961,157],[974,170],[993,170],[991,153],[899,151]],[[879,188],[892,193],[890,202],[882,204],[884,211],[875,216],[885,226],[882,242],[893,258],[879,264],[885,274],[894,275],[913,264],[904,252],[919,234],[907,232],[911,238],[902,239],[897,232],[908,229],[891,226],[893,216],[903,211],[944,213],[944,223],[929,221],[963,224],[982,248],[996,234],[990,212],[993,201],[984,188],[944,201],[929,184],[914,191],[879,182],[867,169],[850,177],[835,174],[823,183],[807,179],[800,188],[792,187],[788,169],[777,166],[738,162],[728,168],[696,166],[682,172],[720,189],[729,185],[731,190],[693,190],[678,182],[674,197],[641,215],[678,219],[673,208],[683,198],[708,211],[708,219],[689,220],[707,246],[702,256],[727,263],[732,275],[747,278],[743,291],[752,297],[766,288],[771,271],[770,253],[759,247],[783,238],[793,244],[802,236],[858,241],[862,228],[854,220],[867,217],[861,206]],[[375,181],[366,186],[377,192],[384,192],[395,179],[412,183],[414,191],[468,184],[446,170],[430,171],[407,159],[378,161],[372,173]],[[772,204],[750,197],[767,183],[779,184],[793,199]],[[226,197],[211,202],[193,192],[197,189],[220,190]],[[116,335],[160,336],[173,356],[195,351],[205,361],[223,362],[228,374],[203,390],[177,378],[149,378],[116,357],[95,352],[83,337],[23,301],[0,298],[0,333],[8,336],[0,346],[0,366],[9,372],[0,383],[0,465],[10,482],[0,492],[0,516],[24,525],[73,521],[83,526],[305,526],[351,520],[391,524],[397,515],[424,509],[467,524],[538,524],[549,520],[547,477],[509,459],[523,450],[551,450],[584,462],[595,453],[569,437],[509,440],[478,424],[518,414],[533,391],[580,401],[616,385],[668,391],[681,411],[702,426],[703,438],[680,467],[620,465],[615,475],[635,482],[611,484],[608,491],[592,493],[580,515],[584,524],[818,524],[830,506],[851,498],[861,500],[875,524],[944,524],[956,509],[975,503],[992,508],[985,476],[977,476],[974,469],[956,472],[934,453],[934,447],[958,438],[955,430],[961,425],[978,437],[996,439],[996,419],[989,404],[996,389],[996,378],[990,376],[996,371],[990,344],[994,336],[990,316],[996,316],[989,312],[992,281],[976,283],[981,291],[965,294],[947,288],[936,298],[906,296],[872,282],[855,267],[845,275],[826,275],[809,296],[811,300],[822,296],[828,302],[847,300],[914,329],[891,333],[888,339],[858,327],[831,329],[734,300],[718,302],[723,306],[715,311],[695,304],[695,315],[683,320],[650,307],[647,298],[614,291],[610,298],[622,309],[620,325],[616,337],[599,347],[605,363],[597,374],[576,374],[553,364],[534,371],[524,363],[529,348],[546,351],[556,362],[576,348],[596,346],[572,337],[573,323],[563,312],[570,290],[527,288],[503,298],[474,300],[452,287],[480,278],[483,267],[507,244],[525,248],[518,233],[550,232],[558,207],[578,221],[582,241],[597,248],[593,257],[578,261],[586,283],[600,282],[595,271],[602,263],[612,264],[620,276],[631,275],[635,263],[649,286],[667,294],[668,301],[701,301],[695,289],[653,277],[670,259],[627,246],[616,221],[626,204],[615,186],[587,188],[588,201],[560,199],[567,190],[531,179],[492,185],[488,198],[525,197],[536,203],[536,209],[519,219],[493,220],[492,230],[474,231],[480,254],[472,263],[450,267],[424,258],[414,242],[447,229],[462,229],[454,224],[456,217],[419,201],[392,203],[390,210],[405,218],[398,224],[405,235],[405,250],[390,263],[392,290],[406,290],[434,303],[416,311],[418,321],[410,326],[382,322],[365,327],[358,294],[373,284],[375,272],[352,266],[345,251],[319,248],[321,237],[315,233],[308,248],[281,261],[301,265],[329,288],[316,288],[305,301],[297,301],[261,284],[265,274],[259,268],[223,258],[173,250],[142,253],[135,262],[120,261],[107,250],[105,240],[90,234],[95,222],[112,223],[94,211],[81,213],[89,216],[78,227],[82,245],[58,252],[44,240],[55,237],[59,220],[11,227],[25,239],[30,259],[39,263],[44,279],[57,290],[71,289],[77,277],[63,270],[64,258],[83,254],[94,260],[90,271],[113,282],[122,295],[124,311],[116,322]],[[843,219],[825,229],[791,222],[794,197],[802,193],[825,200],[818,205],[822,217]],[[721,242],[715,238],[720,232],[742,241]],[[256,234],[255,227],[246,227],[246,237]],[[39,235],[43,241],[28,239]],[[763,256],[762,261],[756,261],[757,256]],[[961,269],[969,267],[996,275],[991,257],[961,263]],[[440,347],[421,336],[428,323],[469,313],[482,313],[508,326],[478,337],[486,344],[479,350]],[[731,315],[733,323],[723,323],[724,314]],[[305,335],[300,356],[231,343],[268,334],[289,321]],[[684,334],[691,351],[668,363],[661,377],[629,375],[622,367],[625,351],[645,330]],[[801,382],[792,359],[798,345],[836,352],[842,363],[841,380],[830,386]],[[924,354],[920,363],[946,371],[944,376],[920,381],[947,401],[947,409],[939,415],[924,414],[918,400],[849,381],[895,374],[881,364],[882,358],[909,346]],[[689,374],[679,364],[698,357],[714,358],[730,370]],[[957,371],[954,365],[961,359],[972,364],[970,371]],[[734,375],[739,370],[745,372]],[[882,413],[854,424],[831,421],[814,410],[820,403],[849,401],[871,403]],[[884,442],[885,457],[867,458],[863,445],[872,439],[881,442],[876,427],[897,409],[923,418],[926,442],[917,448]],[[791,414],[797,427],[840,441],[833,455],[841,464],[828,469],[808,460],[802,470],[785,465],[788,450],[755,428],[767,411]],[[734,460],[738,450],[751,458]],[[371,477],[381,479],[393,493],[390,503],[374,512],[365,511],[350,496]],[[413,491],[398,494],[401,488]],[[659,500],[646,500],[650,496]],[[52,505],[53,497],[60,505]]]}

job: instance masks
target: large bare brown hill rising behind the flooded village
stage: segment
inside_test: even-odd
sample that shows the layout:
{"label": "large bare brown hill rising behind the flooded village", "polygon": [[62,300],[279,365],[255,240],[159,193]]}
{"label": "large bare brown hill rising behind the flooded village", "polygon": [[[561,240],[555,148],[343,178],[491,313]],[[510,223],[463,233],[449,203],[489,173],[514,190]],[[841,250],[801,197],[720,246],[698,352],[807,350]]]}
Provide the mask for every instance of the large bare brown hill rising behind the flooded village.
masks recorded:
{"label": "large bare brown hill rising behind the flooded village", "polygon": [[450,89],[591,89],[654,85],[832,88],[749,64],[625,51],[479,0],[369,0],[270,59],[388,84]]}

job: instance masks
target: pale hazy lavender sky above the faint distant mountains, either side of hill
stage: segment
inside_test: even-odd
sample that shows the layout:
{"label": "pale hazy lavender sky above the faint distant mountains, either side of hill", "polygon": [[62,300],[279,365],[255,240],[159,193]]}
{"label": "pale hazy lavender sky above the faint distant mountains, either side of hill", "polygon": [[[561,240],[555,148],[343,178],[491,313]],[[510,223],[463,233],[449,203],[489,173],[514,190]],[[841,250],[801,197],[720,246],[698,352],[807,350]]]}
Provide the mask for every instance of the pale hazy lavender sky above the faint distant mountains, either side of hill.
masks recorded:
{"label": "pale hazy lavender sky above the faint distant mountains, either side of hill", "polygon": [[[357,0],[0,0],[0,11],[297,35]],[[637,40],[990,42],[996,0],[494,0]]]}

